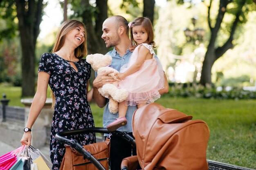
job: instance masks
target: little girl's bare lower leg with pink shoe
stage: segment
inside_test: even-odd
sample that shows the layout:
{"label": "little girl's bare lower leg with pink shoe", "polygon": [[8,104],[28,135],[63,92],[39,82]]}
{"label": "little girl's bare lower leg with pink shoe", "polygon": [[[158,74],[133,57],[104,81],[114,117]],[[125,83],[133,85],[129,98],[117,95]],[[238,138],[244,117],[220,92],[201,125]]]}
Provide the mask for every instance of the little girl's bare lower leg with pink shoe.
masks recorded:
{"label": "little girl's bare lower leg with pink shoe", "polygon": [[118,118],[107,126],[108,131],[115,131],[119,127],[127,124],[127,119],[125,117],[127,109],[128,106],[126,106],[124,102],[118,103]]}

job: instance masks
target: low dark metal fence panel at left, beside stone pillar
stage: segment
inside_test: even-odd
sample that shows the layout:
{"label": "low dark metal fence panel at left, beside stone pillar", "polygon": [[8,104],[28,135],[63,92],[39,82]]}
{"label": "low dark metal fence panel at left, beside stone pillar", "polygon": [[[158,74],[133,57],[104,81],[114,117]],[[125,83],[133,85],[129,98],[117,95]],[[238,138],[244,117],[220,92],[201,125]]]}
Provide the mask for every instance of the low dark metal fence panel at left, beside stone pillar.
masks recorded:
{"label": "low dark metal fence panel at left, beside stone pillar", "polygon": [[[0,119],[3,118],[2,105],[0,105]],[[25,122],[25,108],[5,106],[5,119],[14,122]]]}

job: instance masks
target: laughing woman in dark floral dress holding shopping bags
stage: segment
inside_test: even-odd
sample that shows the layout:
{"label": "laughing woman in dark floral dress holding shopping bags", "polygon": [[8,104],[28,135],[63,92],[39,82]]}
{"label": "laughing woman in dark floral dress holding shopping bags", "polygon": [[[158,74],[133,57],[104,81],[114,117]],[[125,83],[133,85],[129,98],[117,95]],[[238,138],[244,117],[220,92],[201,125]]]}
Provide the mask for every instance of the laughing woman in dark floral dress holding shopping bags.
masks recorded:
{"label": "laughing woman in dark floral dress holding shopping bags", "polygon": [[[65,154],[65,146],[57,142],[60,131],[94,127],[88,92],[91,65],[82,59],[87,54],[86,31],[82,22],[68,20],[58,31],[53,53],[44,53],[38,68],[38,87],[34,96],[22,144],[31,144],[31,128],[42,110],[47,86],[53,92],[54,115],[50,137],[50,158],[53,170],[59,170]],[[32,129],[33,130],[33,129]],[[74,135],[82,145],[96,142],[95,134]]]}

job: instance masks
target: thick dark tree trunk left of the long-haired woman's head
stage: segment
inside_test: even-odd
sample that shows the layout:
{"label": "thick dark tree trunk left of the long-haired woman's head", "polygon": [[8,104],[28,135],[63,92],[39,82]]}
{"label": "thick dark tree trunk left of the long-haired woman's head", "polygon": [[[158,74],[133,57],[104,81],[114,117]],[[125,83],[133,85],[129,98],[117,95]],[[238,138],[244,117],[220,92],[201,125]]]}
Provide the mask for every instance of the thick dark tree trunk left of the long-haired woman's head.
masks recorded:
{"label": "thick dark tree trunk left of the long-haired woman's head", "polygon": [[35,48],[42,18],[43,0],[16,0],[22,50],[22,97],[35,94]]}

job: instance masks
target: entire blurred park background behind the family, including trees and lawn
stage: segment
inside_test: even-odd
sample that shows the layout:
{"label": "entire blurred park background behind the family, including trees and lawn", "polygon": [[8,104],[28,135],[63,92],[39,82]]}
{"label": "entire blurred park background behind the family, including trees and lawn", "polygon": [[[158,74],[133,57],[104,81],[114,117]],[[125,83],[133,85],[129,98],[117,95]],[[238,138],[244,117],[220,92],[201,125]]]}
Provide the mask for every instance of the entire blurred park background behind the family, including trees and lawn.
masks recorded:
{"label": "entire blurred park background behind the family, including trees and lawn", "polygon": [[[61,23],[83,22],[88,54],[106,54],[112,48],[101,39],[102,23],[112,15],[150,18],[169,83],[156,102],[207,123],[207,159],[256,169],[256,0],[0,0],[0,155],[20,146],[40,57],[51,52]],[[33,135],[46,154],[48,91],[44,123],[36,122],[43,132]],[[102,127],[103,109],[90,106]]]}

